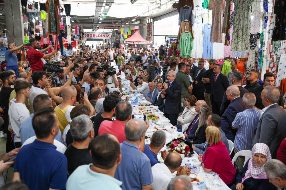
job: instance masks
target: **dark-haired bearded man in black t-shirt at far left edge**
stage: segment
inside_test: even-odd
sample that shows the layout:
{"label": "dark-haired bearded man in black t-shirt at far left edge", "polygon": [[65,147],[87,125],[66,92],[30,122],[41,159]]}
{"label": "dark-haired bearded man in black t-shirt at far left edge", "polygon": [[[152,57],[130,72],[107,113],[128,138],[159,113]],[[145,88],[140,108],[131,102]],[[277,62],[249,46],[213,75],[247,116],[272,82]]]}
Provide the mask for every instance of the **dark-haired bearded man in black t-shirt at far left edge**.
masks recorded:
{"label": "dark-haired bearded man in black t-shirt at far left edge", "polygon": [[8,130],[9,97],[10,93],[14,90],[13,88],[11,88],[11,85],[14,85],[15,83],[15,74],[11,71],[3,71],[0,73],[0,78],[3,81],[3,87],[0,92],[0,97],[4,105],[4,114],[3,114],[4,129],[7,134],[6,152],[10,152],[15,148],[14,142],[11,138],[11,132]]}

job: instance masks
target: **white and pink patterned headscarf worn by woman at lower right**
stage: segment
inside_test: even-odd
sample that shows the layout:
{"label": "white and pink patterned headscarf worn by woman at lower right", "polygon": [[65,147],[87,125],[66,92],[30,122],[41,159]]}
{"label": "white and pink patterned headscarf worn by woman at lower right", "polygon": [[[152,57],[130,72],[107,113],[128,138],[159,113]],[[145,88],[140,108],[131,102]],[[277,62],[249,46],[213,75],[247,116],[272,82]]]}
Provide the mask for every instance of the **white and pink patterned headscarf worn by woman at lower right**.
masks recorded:
{"label": "white and pink patterned headscarf worn by woman at lower right", "polygon": [[263,154],[266,157],[266,162],[272,159],[268,146],[264,143],[256,143],[251,150],[251,158],[248,162],[248,169],[245,176],[242,178],[241,183],[250,177],[253,177],[254,179],[268,179],[265,171],[263,170],[264,164],[263,166],[257,166],[253,162],[253,157],[255,154]]}

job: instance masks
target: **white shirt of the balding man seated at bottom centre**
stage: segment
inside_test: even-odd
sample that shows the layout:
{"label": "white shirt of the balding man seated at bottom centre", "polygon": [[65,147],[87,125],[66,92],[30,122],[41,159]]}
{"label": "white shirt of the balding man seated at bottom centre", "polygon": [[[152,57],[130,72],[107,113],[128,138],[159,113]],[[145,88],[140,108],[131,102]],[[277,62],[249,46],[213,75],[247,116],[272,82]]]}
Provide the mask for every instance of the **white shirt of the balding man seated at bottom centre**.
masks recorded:
{"label": "white shirt of the balding man seated at bottom centre", "polygon": [[152,168],[153,183],[155,190],[166,190],[169,182],[173,178],[170,169],[164,164],[155,164]]}

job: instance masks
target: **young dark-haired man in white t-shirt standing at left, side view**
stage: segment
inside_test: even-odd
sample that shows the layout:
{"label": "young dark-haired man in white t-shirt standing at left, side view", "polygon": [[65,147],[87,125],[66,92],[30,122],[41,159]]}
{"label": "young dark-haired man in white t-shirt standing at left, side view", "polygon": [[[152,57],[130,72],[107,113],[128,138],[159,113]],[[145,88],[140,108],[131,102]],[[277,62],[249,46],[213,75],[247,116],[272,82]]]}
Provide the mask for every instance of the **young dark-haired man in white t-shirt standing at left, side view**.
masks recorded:
{"label": "young dark-haired man in white t-shirt standing at left, side view", "polygon": [[21,123],[30,116],[30,111],[25,105],[25,101],[30,96],[31,85],[27,81],[17,81],[14,85],[17,99],[11,100],[9,106],[9,118],[10,126],[13,134],[13,141],[16,148],[21,147],[20,138],[20,125]]}

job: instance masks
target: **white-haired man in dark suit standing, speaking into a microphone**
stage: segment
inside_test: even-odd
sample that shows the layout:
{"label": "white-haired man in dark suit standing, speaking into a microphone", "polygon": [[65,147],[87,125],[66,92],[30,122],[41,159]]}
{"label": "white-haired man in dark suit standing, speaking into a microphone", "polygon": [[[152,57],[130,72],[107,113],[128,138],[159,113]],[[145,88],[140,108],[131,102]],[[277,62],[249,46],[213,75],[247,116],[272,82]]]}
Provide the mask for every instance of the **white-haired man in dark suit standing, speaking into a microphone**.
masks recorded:
{"label": "white-haired man in dark suit standing, speaking into a microphone", "polygon": [[164,98],[163,112],[172,125],[177,124],[179,113],[182,112],[181,106],[181,84],[176,80],[176,72],[169,71],[167,74],[168,83],[163,83],[163,92],[161,97]]}

